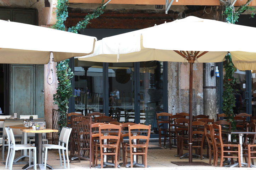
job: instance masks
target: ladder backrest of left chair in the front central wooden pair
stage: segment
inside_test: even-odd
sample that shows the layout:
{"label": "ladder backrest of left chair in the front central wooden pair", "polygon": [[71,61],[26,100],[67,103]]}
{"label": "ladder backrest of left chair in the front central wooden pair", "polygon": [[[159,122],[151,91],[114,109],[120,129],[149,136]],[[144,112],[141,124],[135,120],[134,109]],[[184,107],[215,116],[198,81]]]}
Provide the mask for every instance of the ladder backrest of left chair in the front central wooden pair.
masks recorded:
{"label": "ladder backrest of left chair in the front central wooden pair", "polygon": [[[116,145],[118,146],[119,141],[120,141],[120,136],[121,136],[121,125],[113,125],[113,124],[105,124],[105,125],[99,125],[99,134],[101,134],[101,130],[106,130],[109,131],[110,133],[106,136],[101,136],[99,135],[99,139],[100,139],[100,146],[103,145],[103,141],[104,139],[114,139],[116,140]],[[117,136],[114,135],[113,133],[111,133],[111,130],[117,130]],[[116,134],[116,133],[115,133]],[[102,147],[100,147],[100,149],[102,150]],[[117,152],[117,149],[116,149]]]}

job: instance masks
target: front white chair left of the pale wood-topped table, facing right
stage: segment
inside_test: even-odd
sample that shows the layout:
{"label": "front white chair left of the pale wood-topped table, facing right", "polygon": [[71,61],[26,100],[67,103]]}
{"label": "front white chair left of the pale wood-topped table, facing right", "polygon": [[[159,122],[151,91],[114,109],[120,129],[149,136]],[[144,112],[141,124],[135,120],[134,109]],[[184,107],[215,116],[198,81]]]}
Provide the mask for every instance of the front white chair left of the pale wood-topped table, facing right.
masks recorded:
{"label": "front white chair left of the pale wood-topped table, facing right", "polygon": [[[36,147],[35,146],[31,146],[31,145],[22,145],[22,144],[21,145],[16,145],[12,129],[9,127],[9,128],[6,128],[6,130],[8,130],[8,132],[9,132],[9,138],[8,139],[10,141],[10,144],[11,144],[10,148],[12,150],[10,152],[11,159],[9,159],[9,170],[12,170],[12,165],[13,165],[13,160],[14,160],[14,156],[15,156],[15,151],[25,150],[25,149],[29,149],[29,166],[30,166],[31,157],[32,157],[32,155],[30,153],[30,150],[33,149],[34,169],[36,170]],[[6,165],[5,165],[5,167],[6,167]]]}

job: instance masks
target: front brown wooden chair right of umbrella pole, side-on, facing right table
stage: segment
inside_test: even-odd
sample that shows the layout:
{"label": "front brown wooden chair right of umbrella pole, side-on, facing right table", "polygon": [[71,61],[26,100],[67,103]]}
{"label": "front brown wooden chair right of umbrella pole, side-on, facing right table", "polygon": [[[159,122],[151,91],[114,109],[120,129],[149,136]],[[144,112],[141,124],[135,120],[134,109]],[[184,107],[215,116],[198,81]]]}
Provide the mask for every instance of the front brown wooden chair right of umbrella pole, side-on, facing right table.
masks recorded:
{"label": "front brown wooden chair right of umbrella pole, side-on, facing right table", "polygon": [[[241,167],[241,159],[240,159],[240,144],[230,144],[223,143],[221,137],[221,125],[212,124],[210,125],[210,134],[211,139],[213,139],[213,148],[215,153],[215,163],[217,166],[217,157],[220,156],[220,167],[223,165],[223,158],[238,158],[239,167]],[[233,150],[233,147],[237,147],[236,150]],[[226,149],[230,148],[230,149]],[[237,156],[233,156],[233,153],[236,153]]]}

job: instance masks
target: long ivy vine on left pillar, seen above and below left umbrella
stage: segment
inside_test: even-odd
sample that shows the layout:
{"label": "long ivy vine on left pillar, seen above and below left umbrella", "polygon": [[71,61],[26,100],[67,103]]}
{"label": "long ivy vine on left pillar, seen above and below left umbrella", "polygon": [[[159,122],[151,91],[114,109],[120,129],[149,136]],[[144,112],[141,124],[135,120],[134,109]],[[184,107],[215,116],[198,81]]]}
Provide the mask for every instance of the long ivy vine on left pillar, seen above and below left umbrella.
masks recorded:
{"label": "long ivy vine on left pillar, seen above and below left umbrella", "polygon": [[[52,26],[52,28],[56,30],[65,31],[64,21],[68,17],[68,0],[58,0],[57,2],[57,10],[56,10],[56,24]],[[87,24],[89,24],[90,20],[99,17],[99,15],[103,14],[103,10],[105,9],[104,0],[101,1],[100,6],[94,10],[92,14],[86,15],[86,17],[78,22],[75,26],[72,26],[68,29],[68,32],[77,33],[78,30],[85,29]],[[61,42],[62,43],[62,42]],[[68,103],[69,98],[72,96],[72,85],[71,78],[74,76],[74,73],[71,72],[71,69],[68,66],[69,59],[58,63],[57,68],[57,77],[59,86],[57,88],[57,93],[53,95],[53,104],[58,105],[58,110],[64,113],[68,111]],[[61,130],[63,126],[66,126],[66,115],[61,114],[58,121],[59,129]]]}

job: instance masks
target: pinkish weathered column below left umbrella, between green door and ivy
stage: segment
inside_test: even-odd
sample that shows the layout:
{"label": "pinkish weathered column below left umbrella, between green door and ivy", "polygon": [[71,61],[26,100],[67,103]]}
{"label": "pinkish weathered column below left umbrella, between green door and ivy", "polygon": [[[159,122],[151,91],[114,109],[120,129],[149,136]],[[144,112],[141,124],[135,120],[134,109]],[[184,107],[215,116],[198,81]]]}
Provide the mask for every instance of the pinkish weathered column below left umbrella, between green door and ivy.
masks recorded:
{"label": "pinkish weathered column below left umbrella, between green door and ivy", "polygon": [[[44,90],[45,90],[45,124],[46,128],[52,128],[52,109],[58,109],[58,105],[53,105],[53,94],[58,88],[58,80],[56,76],[56,65],[53,61],[53,54],[51,53],[50,64],[45,64],[44,71]],[[49,72],[50,68],[50,72]],[[49,74],[49,75],[48,75]],[[48,78],[47,78],[48,75]],[[53,75],[53,76],[52,76]],[[52,139],[52,133],[46,133],[47,139]]]}

